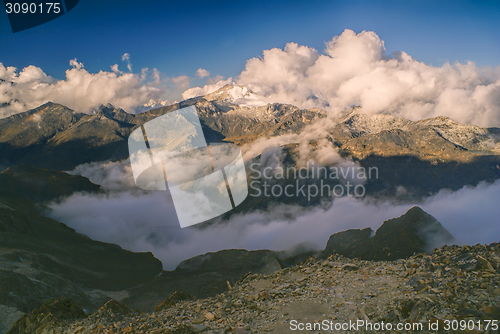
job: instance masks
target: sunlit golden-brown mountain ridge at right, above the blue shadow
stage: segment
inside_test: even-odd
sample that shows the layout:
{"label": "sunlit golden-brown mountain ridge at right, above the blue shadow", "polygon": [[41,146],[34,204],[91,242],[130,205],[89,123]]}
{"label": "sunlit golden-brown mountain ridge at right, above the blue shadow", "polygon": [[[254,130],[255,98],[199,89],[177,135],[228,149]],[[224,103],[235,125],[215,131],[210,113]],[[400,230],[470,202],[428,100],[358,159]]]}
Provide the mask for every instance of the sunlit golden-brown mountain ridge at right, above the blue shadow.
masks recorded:
{"label": "sunlit golden-brown mountain ridge at right, above the blue shadow", "polygon": [[435,162],[468,162],[478,154],[500,154],[500,129],[457,123],[448,117],[410,121],[384,114],[365,115],[353,108],[330,131],[344,154],[413,156]]}

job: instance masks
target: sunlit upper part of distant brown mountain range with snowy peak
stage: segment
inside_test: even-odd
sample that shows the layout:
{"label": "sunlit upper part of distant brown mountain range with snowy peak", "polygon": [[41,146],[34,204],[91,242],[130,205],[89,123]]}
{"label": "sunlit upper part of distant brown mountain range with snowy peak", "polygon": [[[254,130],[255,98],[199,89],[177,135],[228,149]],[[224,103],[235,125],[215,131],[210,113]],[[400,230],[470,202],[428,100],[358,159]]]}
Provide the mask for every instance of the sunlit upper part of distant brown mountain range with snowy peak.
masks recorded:
{"label": "sunlit upper part of distant brown mountain range with snowy peak", "polygon": [[[212,141],[251,142],[260,137],[299,133],[326,117],[319,109],[301,110],[289,104],[249,106],[250,90],[226,85],[205,96],[132,115],[111,105],[94,114],[74,112],[46,103],[0,120],[0,149],[5,165],[27,163],[56,170],[92,161],[128,156],[133,129],[159,115],[195,104],[206,135]],[[336,120],[329,139],[345,155],[412,156],[427,161],[468,162],[478,154],[500,154],[500,129],[463,125],[447,117],[410,121],[385,114],[367,115],[354,107]]]}

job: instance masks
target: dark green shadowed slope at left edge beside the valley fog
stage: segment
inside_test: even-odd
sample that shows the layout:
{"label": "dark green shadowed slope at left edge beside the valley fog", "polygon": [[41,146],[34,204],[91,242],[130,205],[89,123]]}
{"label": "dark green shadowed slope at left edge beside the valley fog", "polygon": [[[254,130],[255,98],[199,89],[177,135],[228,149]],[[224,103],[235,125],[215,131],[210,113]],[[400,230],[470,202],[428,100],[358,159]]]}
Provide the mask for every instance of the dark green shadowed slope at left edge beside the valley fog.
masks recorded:
{"label": "dark green shadowed slope at left edge beside the valley fog", "polygon": [[69,296],[93,311],[112,291],[162,272],[151,253],[93,241],[43,214],[44,203],[77,191],[100,188],[81,176],[30,166],[0,173],[0,333],[50,298]]}

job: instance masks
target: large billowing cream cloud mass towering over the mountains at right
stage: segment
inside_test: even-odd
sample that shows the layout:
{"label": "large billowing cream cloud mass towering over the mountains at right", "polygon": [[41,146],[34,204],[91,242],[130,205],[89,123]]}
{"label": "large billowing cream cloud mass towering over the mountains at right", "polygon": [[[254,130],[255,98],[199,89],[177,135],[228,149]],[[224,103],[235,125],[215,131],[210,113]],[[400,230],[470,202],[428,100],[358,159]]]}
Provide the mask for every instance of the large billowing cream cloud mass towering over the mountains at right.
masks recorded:
{"label": "large billowing cream cloud mass towering over the mountains at right", "polygon": [[[500,126],[500,67],[473,62],[436,67],[405,52],[385,54],[371,31],[345,30],[324,53],[288,43],[247,61],[235,80],[260,97],[260,104],[290,103],[321,108],[335,116],[352,105],[368,113],[418,120],[448,116],[458,122]],[[184,96],[210,93],[220,85],[191,88]]]}

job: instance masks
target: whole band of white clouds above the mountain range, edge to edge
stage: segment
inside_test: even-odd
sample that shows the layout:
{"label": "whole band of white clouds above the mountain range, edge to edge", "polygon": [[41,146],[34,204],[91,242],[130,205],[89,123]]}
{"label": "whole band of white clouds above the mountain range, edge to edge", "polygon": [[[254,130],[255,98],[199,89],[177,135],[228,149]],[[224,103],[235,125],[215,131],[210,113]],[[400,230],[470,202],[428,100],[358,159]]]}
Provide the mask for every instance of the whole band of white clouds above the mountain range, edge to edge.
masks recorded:
{"label": "whole band of white clouds above the mountain range, edge to edge", "polygon": [[[131,71],[130,54],[125,53],[122,60]],[[296,43],[264,50],[262,57],[247,61],[234,81],[216,76],[208,78],[204,87],[189,88],[187,76],[160,79],[156,69],[153,81],[146,85],[144,73],[124,74],[116,64],[111,72],[91,74],[76,59],[70,63],[73,68],[66,72],[65,80],[55,80],[35,66],[18,73],[0,65],[0,79],[4,80],[0,82],[0,105],[4,104],[0,117],[49,100],[79,111],[106,103],[133,111],[151,100],[176,100],[181,91],[187,99],[225,84],[238,84],[257,93],[251,105],[290,103],[324,109],[332,116],[361,105],[368,113],[384,112],[411,120],[448,116],[461,123],[500,126],[500,67],[478,68],[473,62],[435,67],[405,52],[389,56],[384,42],[370,31],[356,34],[345,30],[326,43],[323,53]],[[197,75],[207,77],[209,73],[200,68]],[[174,88],[165,87],[166,83]]]}

